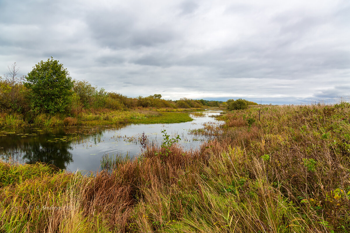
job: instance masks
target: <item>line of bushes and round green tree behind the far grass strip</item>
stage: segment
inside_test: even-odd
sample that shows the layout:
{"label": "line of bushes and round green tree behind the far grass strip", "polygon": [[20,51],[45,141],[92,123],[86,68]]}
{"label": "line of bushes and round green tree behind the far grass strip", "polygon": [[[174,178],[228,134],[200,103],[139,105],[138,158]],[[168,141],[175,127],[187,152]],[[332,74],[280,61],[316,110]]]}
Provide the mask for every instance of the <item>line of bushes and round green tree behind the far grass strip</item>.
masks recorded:
{"label": "line of bushes and round green tree behind the far grass strip", "polygon": [[[72,80],[62,64],[52,58],[35,65],[27,76],[18,77],[18,71],[14,63],[8,67],[8,74],[0,77],[0,112],[12,111],[29,116],[62,112],[76,116],[86,109],[203,108],[226,104],[203,99],[164,100],[161,94],[134,98],[106,92],[104,88],[98,89],[86,80]],[[227,104],[230,106],[229,101]]]}

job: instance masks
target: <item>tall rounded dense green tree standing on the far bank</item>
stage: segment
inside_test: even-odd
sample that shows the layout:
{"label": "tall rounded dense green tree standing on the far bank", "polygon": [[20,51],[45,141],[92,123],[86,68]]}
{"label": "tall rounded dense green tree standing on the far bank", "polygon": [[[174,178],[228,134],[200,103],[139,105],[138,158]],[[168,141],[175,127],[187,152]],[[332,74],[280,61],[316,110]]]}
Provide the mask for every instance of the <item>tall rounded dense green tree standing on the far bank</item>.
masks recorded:
{"label": "tall rounded dense green tree standing on the far bank", "polygon": [[25,86],[30,90],[34,112],[63,112],[71,102],[73,82],[69,72],[52,57],[33,67]]}

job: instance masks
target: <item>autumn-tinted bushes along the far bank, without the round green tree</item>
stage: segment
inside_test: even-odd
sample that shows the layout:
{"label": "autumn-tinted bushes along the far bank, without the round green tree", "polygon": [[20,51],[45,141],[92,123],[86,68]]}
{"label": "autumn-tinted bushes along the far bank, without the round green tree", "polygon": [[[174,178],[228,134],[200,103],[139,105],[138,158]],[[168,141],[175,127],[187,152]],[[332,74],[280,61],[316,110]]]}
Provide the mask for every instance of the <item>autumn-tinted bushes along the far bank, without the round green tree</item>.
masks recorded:
{"label": "autumn-tinted bushes along the far bank, without the round green tree", "polygon": [[[24,80],[0,79],[0,111],[26,112],[66,112],[78,114],[84,109],[107,108],[112,110],[126,110],[136,108],[201,108],[201,100],[182,98],[180,100],[164,100],[161,94],[150,96],[127,97],[116,92],[106,92],[104,88],[98,89],[89,82],[73,80],[73,87],[68,103],[63,111],[48,108],[48,104],[33,104],[31,90],[26,87]],[[50,99],[50,96],[47,96]],[[206,106],[218,106],[217,101],[207,101]]]}

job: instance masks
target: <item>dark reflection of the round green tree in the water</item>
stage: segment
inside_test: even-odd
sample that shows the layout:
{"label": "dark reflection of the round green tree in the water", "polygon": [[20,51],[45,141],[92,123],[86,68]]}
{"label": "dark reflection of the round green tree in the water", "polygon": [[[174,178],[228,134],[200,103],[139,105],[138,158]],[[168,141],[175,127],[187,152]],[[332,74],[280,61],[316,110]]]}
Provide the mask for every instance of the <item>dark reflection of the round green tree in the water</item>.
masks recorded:
{"label": "dark reflection of the round green tree in the water", "polygon": [[26,145],[23,148],[23,159],[27,163],[44,162],[55,165],[59,169],[66,169],[66,165],[73,162],[70,142],[39,143]]}

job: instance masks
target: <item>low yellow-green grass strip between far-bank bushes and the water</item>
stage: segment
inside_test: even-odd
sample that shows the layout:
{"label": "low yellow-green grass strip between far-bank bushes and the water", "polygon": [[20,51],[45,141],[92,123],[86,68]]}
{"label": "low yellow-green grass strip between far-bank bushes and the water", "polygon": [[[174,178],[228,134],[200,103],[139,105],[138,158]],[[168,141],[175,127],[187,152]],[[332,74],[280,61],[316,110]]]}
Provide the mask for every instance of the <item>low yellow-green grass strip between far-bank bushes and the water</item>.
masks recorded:
{"label": "low yellow-green grass strip between far-bank bushes and the water", "polygon": [[0,127],[19,128],[29,125],[52,127],[63,125],[117,125],[119,123],[181,123],[193,120],[186,112],[199,110],[202,109],[139,109],[126,111],[99,109],[81,112],[75,117],[59,114],[39,114],[31,120],[28,120],[26,116],[22,114],[0,114]]}

